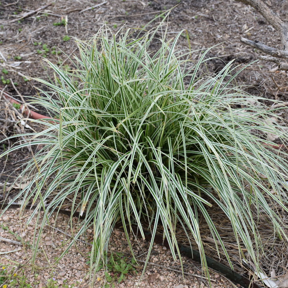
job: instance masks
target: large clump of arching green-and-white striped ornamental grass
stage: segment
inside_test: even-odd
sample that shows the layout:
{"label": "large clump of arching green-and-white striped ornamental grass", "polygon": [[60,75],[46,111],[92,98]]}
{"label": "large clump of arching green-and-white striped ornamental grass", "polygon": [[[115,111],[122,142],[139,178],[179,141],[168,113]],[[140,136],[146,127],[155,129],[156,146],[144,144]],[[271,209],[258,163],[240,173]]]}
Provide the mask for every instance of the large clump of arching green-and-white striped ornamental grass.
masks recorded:
{"label": "large clump of arching green-and-white striped ornamental grass", "polygon": [[192,61],[190,51],[177,47],[181,33],[169,39],[163,21],[136,37],[130,30],[111,35],[104,26],[91,40],[76,40],[80,57],[73,71],[47,60],[55,77],[37,79],[48,89],[34,102],[55,120],[47,120],[47,128],[30,143],[9,150],[41,145],[26,164],[23,175],[29,182],[16,198],[23,206],[38,204],[31,217],[43,207],[40,233],[52,212],[71,199],[71,211],[85,216],[74,239],[87,228],[94,231],[91,271],[109,249],[119,221],[129,245],[132,224],[143,238],[144,221],[151,224],[147,261],[159,225],[176,257],[175,227],[182,226],[193,235],[207,268],[199,214],[225,251],[207,212],[211,205],[227,215],[255,263],[249,232],[259,247],[262,243],[251,220],[252,207],[287,238],[270,207],[278,203],[287,211],[282,183],[288,166],[284,153],[275,153],[265,136],[287,137],[285,129],[265,121],[273,113],[250,104],[255,99],[233,87],[239,72],[232,62],[217,74],[203,73],[209,50]]}

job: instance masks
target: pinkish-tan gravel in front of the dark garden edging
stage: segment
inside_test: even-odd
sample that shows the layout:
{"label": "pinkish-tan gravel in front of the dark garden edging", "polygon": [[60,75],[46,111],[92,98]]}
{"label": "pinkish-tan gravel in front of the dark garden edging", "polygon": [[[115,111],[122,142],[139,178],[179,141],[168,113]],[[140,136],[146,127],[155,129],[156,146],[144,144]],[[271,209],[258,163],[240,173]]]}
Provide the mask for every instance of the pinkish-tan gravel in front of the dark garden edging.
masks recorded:
{"label": "pinkish-tan gravel in front of the dark garden edging", "polygon": [[[55,262],[63,251],[68,247],[71,238],[71,223],[67,215],[58,214],[51,217],[50,226],[46,225],[39,239],[39,249],[35,252],[35,263],[32,265],[33,235],[35,240],[38,236],[39,225],[36,225],[36,218],[29,221],[31,211],[25,210],[20,216],[20,209],[8,209],[5,215],[0,218],[0,265],[7,268],[7,271],[13,267],[16,274],[25,275],[26,283],[31,287],[48,287],[49,282],[55,279],[56,287],[65,287],[65,283],[70,287],[91,287],[89,279],[89,265],[86,264],[91,251],[90,242],[92,241],[93,231],[89,229],[86,235],[77,241],[77,245],[72,245],[66,255],[58,262]],[[40,212],[39,223],[41,223]],[[76,232],[78,219],[73,218],[72,231]],[[36,229],[35,229],[36,227]],[[75,228],[74,228],[75,227]],[[181,272],[179,259],[173,260],[171,251],[166,247],[158,244],[153,246],[149,264],[141,278],[146,253],[150,243],[134,236],[130,237],[134,255],[137,258],[139,266],[135,271],[126,275],[122,283],[115,281],[108,284],[107,287],[124,288],[124,287],[174,287],[174,288],[196,288],[209,287],[209,283],[204,277],[201,264],[187,257],[183,257],[184,278]],[[16,242],[7,242],[16,241]],[[18,243],[17,243],[18,242]],[[127,257],[127,261],[132,256],[122,230],[115,230],[110,238],[111,250],[121,252]],[[213,288],[221,287],[240,287],[236,286],[219,275],[217,272],[209,269],[211,284]],[[104,270],[94,274],[93,287],[104,287],[105,275]],[[66,279],[66,280],[65,280]],[[64,285],[64,286],[63,286]],[[68,286],[69,287],[69,286]]]}

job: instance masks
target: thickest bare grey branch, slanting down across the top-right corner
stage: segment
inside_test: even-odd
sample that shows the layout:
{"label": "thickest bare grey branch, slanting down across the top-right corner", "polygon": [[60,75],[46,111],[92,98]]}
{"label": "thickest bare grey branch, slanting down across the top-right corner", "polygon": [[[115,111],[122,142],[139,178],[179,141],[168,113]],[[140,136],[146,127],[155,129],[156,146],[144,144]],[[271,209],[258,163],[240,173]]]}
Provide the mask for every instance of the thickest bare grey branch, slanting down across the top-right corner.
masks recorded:
{"label": "thickest bare grey branch, slanting down across the top-right corner", "polygon": [[255,8],[280,34],[281,43],[285,51],[288,51],[288,25],[283,22],[270,8],[261,0],[236,0]]}

